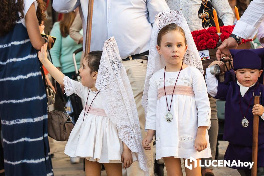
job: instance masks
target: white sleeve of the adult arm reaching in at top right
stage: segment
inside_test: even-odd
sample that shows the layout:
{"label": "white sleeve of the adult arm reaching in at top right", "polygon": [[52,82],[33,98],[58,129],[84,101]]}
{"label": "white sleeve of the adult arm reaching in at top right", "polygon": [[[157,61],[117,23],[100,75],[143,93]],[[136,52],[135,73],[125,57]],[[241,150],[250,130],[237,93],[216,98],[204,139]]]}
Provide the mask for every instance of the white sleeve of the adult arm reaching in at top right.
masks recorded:
{"label": "white sleeve of the adult arm reaching in at top right", "polygon": [[257,33],[257,27],[264,20],[264,0],[253,0],[237,21],[233,34],[244,39],[253,38]]}

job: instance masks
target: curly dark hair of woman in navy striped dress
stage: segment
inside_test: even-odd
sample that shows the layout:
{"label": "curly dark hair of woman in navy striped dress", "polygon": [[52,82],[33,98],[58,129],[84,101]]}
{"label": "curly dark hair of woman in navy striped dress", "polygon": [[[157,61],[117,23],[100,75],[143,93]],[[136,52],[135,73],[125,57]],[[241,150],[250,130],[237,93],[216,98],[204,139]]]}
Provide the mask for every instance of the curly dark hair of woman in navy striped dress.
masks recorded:
{"label": "curly dark hair of woman in navy striped dress", "polygon": [[[16,24],[16,21],[25,17],[23,13],[24,10],[24,0],[2,0],[0,3],[0,36],[7,34],[12,30]],[[46,15],[43,13],[46,4],[43,0],[37,0],[38,7],[36,15],[38,18],[39,25],[41,21],[46,19]],[[18,16],[18,12],[21,14]]]}

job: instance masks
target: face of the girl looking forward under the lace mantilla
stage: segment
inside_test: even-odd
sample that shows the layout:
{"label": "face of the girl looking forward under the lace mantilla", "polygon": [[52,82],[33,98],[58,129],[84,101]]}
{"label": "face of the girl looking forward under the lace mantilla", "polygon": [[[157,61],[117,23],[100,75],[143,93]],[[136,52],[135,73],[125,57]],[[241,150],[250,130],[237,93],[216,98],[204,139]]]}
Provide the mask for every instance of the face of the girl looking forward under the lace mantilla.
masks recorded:
{"label": "face of the girl looking forward under the lace mantilla", "polygon": [[179,31],[171,31],[162,36],[158,53],[164,58],[166,65],[181,64],[187,50],[184,36]]}

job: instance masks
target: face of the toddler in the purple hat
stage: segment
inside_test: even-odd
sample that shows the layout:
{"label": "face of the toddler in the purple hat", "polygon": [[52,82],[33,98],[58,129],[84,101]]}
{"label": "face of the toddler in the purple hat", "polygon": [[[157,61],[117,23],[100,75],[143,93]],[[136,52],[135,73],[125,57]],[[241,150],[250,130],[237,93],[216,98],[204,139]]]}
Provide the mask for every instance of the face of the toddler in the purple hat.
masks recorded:
{"label": "face of the toddler in the purple hat", "polygon": [[241,85],[246,87],[255,84],[260,77],[263,70],[258,69],[237,69],[235,74],[237,76],[237,80]]}

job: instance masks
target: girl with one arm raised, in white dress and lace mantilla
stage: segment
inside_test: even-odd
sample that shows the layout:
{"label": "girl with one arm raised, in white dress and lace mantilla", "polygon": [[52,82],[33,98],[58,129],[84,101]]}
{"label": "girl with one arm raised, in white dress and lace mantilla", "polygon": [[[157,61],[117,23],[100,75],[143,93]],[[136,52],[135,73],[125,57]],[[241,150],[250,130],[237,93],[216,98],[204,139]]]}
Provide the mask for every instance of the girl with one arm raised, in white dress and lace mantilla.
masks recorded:
{"label": "girl with one arm raised, in white dress and lace mantilla", "polygon": [[[124,163],[123,168],[128,168],[135,160],[139,160],[141,168],[147,173],[143,147],[134,143],[131,144],[132,141],[141,145],[141,136],[135,135],[135,133],[133,135],[132,133],[130,140],[126,139],[123,134],[123,131],[126,132],[126,129],[123,128],[123,131],[121,131],[121,125],[119,124],[120,121],[123,124],[128,124],[127,128],[132,128],[132,126],[134,126],[134,130],[140,131],[139,121],[137,122],[135,120],[129,123],[129,118],[131,117],[123,115],[124,118],[117,122],[116,116],[118,116],[118,113],[114,115],[109,113],[109,107],[112,112],[116,112],[116,108],[123,107],[122,102],[119,107],[116,106],[114,108],[106,104],[109,97],[111,98],[112,96],[107,95],[107,90],[103,90],[102,86],[109,84],[110,79],[104,80],[102,78],[113,75],[111,68],[122,68],[123,66],[120,65],[122,63],[116,42],[114,38],[110,39],[105,42],[103,52],[92,51],[83,59],[82,66],[79,69],[82,78],[81,83],[71,80],[52,65],[47,59],[47,44],[44,44],[44,46],[41,47],[41,51],[38,55],[41,63],[49,71],[52,77],[59,84],[64,85],[64,90],[67,96],[75,93],[85,101],[84,109],[69,136],[64,153],[70,157],[85,158],[86,176],[100,176],[102,164],[104,165],[108,176],[122,176],[122,162]],[[111,49],[111,46],[117,48],[115,52],[112,51],[112,55],[107,52]],[[103,66],[106,65],[104,63],[107,63],[106,67]],[[117,63],[119,63],[118,66],[116,66]],[[101,75],[98,73],[98,70],[100,70]],[[104,75],[105,72],[108,72],[107,76]],[[96,86],[96,80],[99,77],[99,86]],[[115,80],[112,80],[112,83],[118,85]],[[98,91],[96,87],[99,87],[102,91]],[[118,93],[119,90],[116,91]],[[120,97],[115,98],[122,99]],[[129,101],[133,103],[133,100]],[[122,113],[126,112],[123,110]]]}

